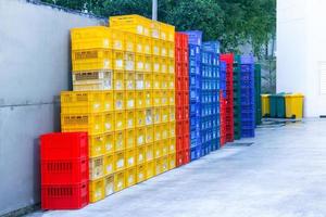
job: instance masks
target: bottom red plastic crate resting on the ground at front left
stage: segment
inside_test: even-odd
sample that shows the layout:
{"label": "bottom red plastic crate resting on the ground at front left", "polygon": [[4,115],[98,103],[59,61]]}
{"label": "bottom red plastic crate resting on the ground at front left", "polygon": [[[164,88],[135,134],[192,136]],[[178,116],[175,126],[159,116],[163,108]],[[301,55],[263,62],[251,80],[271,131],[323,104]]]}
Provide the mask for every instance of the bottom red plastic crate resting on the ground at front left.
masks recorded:
{"label": "bottom red plastic crate resting on the ground at front left", "polygon": [[76,184],[42,184],[42,209],[77,209],[89,203],[88,181]]}

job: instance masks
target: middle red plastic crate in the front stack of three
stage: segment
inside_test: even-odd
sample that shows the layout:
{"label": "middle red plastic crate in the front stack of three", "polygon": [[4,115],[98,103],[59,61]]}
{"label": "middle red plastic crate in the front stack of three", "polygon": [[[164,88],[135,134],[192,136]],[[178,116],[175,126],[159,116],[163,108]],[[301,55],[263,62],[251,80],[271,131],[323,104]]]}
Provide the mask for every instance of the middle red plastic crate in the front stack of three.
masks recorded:
{"label": "middle red plastic crate in the front stack of three", "polygon": [[87,181],[88,158],[41,161],[41,183],[62,184]]}

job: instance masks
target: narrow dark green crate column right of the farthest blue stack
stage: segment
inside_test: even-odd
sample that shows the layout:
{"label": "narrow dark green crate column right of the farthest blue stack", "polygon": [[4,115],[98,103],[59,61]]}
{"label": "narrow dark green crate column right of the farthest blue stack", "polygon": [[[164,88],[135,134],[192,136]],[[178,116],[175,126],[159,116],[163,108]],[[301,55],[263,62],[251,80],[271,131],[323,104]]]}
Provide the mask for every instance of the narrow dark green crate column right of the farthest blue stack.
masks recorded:
{"label": "narrow dark green crate column right of the farthest blue stack", "polygon": [[254,64],[255,125],[262,124],[262,66]]}

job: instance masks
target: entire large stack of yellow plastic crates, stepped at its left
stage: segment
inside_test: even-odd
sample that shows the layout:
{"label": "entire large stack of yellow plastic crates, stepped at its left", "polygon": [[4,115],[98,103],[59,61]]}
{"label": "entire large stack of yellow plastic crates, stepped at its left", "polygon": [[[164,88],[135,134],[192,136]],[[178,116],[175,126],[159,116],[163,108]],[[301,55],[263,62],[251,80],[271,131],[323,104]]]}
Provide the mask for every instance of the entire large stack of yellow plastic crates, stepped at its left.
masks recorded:
{"label": "entire large stack of yellow plastic crates, stepped at its left", "polygon": [[89,135],[90,202],[175,167],[174,27],[138,15],[72,29],[62,131]]}

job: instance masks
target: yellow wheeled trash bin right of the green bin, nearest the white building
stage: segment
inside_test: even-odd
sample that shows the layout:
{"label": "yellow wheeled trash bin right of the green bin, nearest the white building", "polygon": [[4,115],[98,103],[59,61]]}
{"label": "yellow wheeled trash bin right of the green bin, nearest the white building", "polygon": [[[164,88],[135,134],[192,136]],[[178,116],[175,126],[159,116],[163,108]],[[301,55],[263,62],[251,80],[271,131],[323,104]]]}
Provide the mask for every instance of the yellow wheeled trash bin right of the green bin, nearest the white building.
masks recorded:
{"label": "yellow wheeled trash bin right of the green bin, nearest the white building", "polygon": [[286,117],[301,119],[303,117],[303,99],[301,93],[286,94]]}

